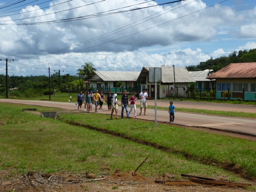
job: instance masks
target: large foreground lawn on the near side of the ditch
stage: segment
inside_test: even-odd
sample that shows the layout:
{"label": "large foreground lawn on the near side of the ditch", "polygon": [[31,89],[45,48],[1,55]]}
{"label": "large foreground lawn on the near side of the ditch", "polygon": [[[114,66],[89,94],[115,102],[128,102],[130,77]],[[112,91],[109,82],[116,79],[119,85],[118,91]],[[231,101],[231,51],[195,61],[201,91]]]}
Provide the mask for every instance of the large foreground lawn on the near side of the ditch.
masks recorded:
{"label": "large foreground lawn on the near side of the ditch", "polygon": [[[112,174],[118,168],[123,172],[132,171],[150,153],[149,163],[138,170],[144,176],[157,178],[168,172],[178,178],[183,173],[244,182],[230,172],[186,160],[181,154],[167,153],[51,118],[40,117],[36,124],[29,121],[3,125],[0,129],[0,170],[12,171],[8,177],[28,171],[94,172],[96,176]],[[110,171],[102,169],[104,166]]]}

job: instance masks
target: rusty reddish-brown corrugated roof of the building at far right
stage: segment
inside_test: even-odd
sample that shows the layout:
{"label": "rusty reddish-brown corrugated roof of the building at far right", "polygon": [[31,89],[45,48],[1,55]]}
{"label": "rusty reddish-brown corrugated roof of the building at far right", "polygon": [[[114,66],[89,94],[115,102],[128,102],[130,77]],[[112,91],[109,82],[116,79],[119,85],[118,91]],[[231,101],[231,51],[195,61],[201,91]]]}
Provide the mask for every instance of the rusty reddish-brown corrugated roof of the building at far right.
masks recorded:
{"label": "rusty reddish-brown corrugated roof of the building at far right", "polygon": [[231,63],[207,78],[256,78],[256,63]]}

